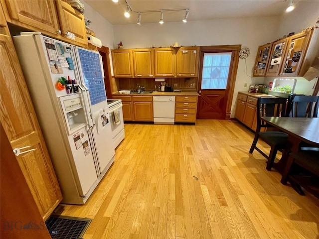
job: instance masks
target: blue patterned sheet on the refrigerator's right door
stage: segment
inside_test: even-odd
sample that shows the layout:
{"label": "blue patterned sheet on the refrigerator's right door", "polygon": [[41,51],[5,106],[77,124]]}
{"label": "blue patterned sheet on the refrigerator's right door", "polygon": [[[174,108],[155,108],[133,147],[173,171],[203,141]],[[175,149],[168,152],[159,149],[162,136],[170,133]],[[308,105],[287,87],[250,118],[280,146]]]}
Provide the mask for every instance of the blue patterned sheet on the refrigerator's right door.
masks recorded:
{"label": "blue patterned sheet on the refrigerator's right door", "polygon": [[85,85],[89,88],[91,105],[106,101],[100,58],[97,53],[78,49]]}

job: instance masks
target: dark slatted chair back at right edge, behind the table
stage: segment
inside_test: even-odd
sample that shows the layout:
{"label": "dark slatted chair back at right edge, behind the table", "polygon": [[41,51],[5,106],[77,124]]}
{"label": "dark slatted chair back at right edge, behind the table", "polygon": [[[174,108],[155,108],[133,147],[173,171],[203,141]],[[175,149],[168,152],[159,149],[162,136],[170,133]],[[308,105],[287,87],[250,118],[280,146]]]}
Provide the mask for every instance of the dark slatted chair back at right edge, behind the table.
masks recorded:
{"label": "dark slatted chair back at right edge, behind the table", "polygon": [[318,117],[319,96],[295,96],[292,117]]}

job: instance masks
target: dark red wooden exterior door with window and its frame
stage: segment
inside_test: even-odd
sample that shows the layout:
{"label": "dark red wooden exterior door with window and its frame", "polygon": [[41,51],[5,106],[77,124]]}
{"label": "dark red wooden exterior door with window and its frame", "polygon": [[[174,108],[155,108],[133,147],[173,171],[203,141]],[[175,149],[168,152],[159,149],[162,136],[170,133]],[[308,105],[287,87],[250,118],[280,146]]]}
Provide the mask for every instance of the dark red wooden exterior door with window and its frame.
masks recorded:
{"label": "dark red wooden exterior door with window and its frame", "polygon": [[200,48],[197,119],[230,119],[240,45]]}

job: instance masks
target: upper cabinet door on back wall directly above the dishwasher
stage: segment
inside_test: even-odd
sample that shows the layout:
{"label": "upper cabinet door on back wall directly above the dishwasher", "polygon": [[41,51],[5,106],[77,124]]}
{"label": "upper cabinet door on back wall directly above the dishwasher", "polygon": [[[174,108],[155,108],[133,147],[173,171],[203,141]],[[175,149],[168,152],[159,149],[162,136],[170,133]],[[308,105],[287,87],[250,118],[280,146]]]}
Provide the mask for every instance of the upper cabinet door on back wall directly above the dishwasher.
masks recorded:
{"label": "upper cabinet door on back wall directly above the dishwasher", "polygon": [[155,48],[155,76],[175,76],[175,49]]}

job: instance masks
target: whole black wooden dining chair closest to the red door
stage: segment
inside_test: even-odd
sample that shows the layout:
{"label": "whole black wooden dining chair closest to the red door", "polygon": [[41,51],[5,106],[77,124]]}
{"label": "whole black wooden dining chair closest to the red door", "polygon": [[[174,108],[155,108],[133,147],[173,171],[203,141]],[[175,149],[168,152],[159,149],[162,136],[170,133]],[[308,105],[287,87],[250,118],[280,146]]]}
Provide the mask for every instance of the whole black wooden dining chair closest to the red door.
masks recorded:
{"label": "whole black wooden dining chair closest to the red door", "polygon": [[[266,169],[271,170],[276,154],[278,150],[285,148],[288,134],[285,132],[279,131],[262,131],[261,129],[272,127],[262,120],[262,117],[280,117],[284,116],[285,106],[287,99],[286,98],[258,98],[257,100],[257,129],[255,132],[254,141],[250,147],[249,152],[252,153],[254,149],[260,152],[265,158],[267,158]],[[269,155],[263,152],[260,148],[257,147],[258,139],[261,138],[266,142],[270,147]]]}

